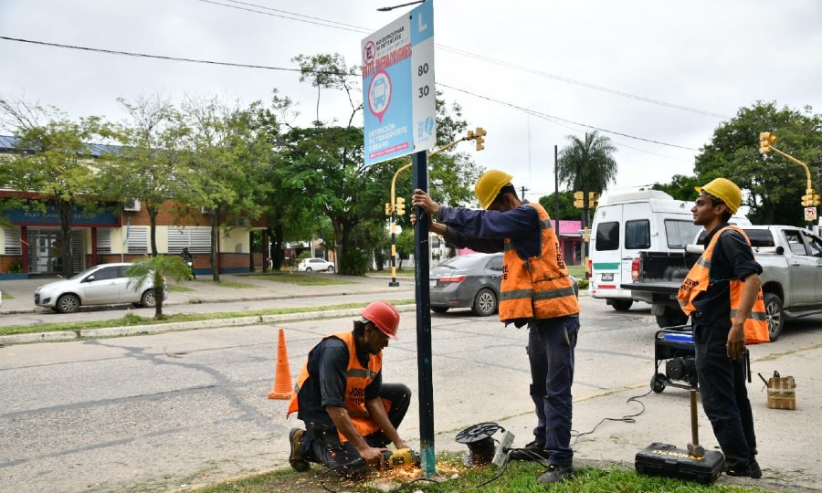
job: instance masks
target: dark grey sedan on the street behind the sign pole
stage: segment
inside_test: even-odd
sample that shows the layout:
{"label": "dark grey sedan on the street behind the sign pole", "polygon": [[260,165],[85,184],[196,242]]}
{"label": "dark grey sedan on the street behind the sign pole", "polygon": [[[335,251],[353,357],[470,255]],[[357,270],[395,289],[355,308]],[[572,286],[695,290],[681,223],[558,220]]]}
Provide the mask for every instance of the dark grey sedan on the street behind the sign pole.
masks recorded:
{"label": "dark grey sedan on the street behind the sign pole", "polygon": [[480,317],[493,315],[499,305],[501,280],[501,253],[448,258],[431,269],[431,309],[445,313],[470,308]]}

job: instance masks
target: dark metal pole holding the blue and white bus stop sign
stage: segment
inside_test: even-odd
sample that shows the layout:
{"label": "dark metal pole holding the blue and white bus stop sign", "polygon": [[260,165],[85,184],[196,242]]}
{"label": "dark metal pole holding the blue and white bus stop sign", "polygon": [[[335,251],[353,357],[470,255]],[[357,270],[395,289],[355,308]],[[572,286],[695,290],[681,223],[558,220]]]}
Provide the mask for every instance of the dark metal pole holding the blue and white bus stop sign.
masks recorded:
{"label": "dark metal pole holding the blue and white bus stop sign", "polygon": [[[413,156],[412,182],[415,189],[428,190],[428,158],[425,151]],[[414,270],[416,273],[416,366],[419,379],[419,452],[425,477],[437,476],[434,467],[434,386],[431,367],[431,299],[428,285],[430,264],[427,215],[416,211],[414,230]]]}

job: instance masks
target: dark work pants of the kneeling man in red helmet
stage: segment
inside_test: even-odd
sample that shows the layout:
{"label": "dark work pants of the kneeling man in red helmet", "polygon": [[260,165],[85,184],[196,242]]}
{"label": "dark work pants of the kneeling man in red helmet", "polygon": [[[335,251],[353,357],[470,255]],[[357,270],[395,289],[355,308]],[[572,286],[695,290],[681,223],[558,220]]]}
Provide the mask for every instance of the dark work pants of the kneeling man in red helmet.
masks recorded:
{"label": "dark work pants of the kneeling man in red helmet", "polygon": [[[383,383],[380,398],[391,403],[388,409],[388,421],[394,428],[399,428],[406,417],[408,405],[411,404],[411,389],[403,383]],[[306,433],[302,435],[302,450],[308,460],[331,467],[342,476],[362,476],[365,464],[353,465],[360,457],[357,449],[349,441],[341,442],[337,428],[321,428],[306,424]],[[382,430],[364,436],[365,442],[375,448],[385,448],[391,440]]]}

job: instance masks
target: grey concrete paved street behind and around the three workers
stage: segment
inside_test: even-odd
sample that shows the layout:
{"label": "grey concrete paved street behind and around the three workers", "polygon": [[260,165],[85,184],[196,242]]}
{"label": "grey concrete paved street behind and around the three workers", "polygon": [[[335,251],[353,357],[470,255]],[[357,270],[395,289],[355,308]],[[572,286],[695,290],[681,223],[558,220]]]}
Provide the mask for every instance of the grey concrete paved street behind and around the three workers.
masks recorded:
{"label": "grey concrete paved street behind and around the three workers", "polygon": [[[656,326],[647,306],[617,313],[601,300],[581,303],[574,427],[584,432],[604,417],[639,411],[626,400],[648,391]],[[817,447],[808,432],[822,414],[819,325],[798,322],[777,343],[752,349],[754,372],[777,369],[799,385],[796,412],[766,409],[762,384],[749,386],[765,475],[759,484],[767,488],[822,484],[807,453]],[[285,420],[286,401],[266,397],[279,328],[296,377],[322,335],[350,327],[351,318],[311,320],[0,348],[0,490],[165,491],[288,467],[288,431],[299,422]],[[385,352],[385,380],[416,392],[414,327],[413,311],[404,312],[400,341]],[[437,451],[463,451],[454,435],[485,421],[510,429],[515,445],[531,441],[526,333],[467,310],[433,315]],[[690,440],[687,392],[669,389],[642,402],[647,410],[636,424],[602,425],[580,438],[577,457],[630,463],[653,441]],[[413,446],[417,413],[414,402],[400,429]],[[703,414],[701,439],[715,446]]]}

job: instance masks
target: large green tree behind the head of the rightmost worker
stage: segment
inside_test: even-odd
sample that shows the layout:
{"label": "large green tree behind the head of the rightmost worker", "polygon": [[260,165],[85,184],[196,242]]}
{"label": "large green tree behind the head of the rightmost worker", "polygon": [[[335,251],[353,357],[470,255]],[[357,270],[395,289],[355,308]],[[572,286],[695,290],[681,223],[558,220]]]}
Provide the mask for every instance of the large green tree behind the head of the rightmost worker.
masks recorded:
{"label": "large green tree behind the head of the rightmost worker", "polygon": [[[724,176],[743,189],[743,205],[750,207],[754,223],[802,224],[806,172],[775,152],[760,154],[761,131],[774,133],[779,139],[776,147],[804,163],[814,163],[822,150],[822,116],[811,107],[780,110],[775,102],[757,101],[722,122],[701,149],[694,167],[699,184]],[[818,164],[811,170],[812,179],[817,171]]]}

